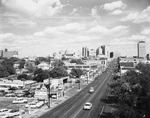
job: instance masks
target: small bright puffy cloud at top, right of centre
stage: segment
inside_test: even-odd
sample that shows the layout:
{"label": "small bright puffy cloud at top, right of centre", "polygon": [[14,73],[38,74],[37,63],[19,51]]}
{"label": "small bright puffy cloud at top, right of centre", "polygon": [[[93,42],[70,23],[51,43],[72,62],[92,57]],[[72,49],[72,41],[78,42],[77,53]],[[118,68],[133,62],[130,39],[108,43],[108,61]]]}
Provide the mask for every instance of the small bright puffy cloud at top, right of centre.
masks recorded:
{"label": "small bright puffy cloud at top, right of centre", "polygon": [[125,9],[127,7],[126,4],[124,4],[122,1],[115,1],[111,3],[106,3],[101,6],[106,11],[113,11],[116,9]]}

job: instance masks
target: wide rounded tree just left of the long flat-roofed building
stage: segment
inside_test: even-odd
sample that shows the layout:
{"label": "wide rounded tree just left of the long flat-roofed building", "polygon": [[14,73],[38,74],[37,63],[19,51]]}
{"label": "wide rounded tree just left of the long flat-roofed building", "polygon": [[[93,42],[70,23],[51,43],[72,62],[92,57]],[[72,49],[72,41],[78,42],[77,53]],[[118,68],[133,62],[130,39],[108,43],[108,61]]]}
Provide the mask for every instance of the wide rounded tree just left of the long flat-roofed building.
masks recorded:
{"label": "wide rounded tree just left of the long flat-roofed building", "polygon": [[68,72],[64,67],[55,67],[50,71],[50,77],[60,78],[68,76]]}

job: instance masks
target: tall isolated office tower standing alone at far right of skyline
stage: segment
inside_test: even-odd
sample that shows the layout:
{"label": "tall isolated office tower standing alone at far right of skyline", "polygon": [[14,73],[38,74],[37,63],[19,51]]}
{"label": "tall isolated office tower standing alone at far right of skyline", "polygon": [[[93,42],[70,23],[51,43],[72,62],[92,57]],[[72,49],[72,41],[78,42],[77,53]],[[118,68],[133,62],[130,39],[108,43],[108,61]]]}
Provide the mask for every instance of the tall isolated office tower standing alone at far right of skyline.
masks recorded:
{"label": "tall isolated office tower standing alone at far right of skyline", "polygon": [[145,58],[146,57],[146,45],[145,41],[139,41],[137,44],[137,53],[138,58]]}

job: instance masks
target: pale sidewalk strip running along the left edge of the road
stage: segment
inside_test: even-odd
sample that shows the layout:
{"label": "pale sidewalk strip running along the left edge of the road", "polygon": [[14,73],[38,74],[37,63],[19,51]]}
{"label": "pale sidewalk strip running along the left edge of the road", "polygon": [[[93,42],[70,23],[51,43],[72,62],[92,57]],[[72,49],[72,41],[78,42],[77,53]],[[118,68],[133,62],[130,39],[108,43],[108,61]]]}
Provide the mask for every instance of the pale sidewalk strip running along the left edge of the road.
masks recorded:
{"label": "pale sidewalk strip running along the left edge of the road", "polygon": [[[86,85],[87,85],[86,83],[83,83],[83,84],[81,84],[80,88],[83,89]],[[57,100],[51,100],[51,104],[50,104],[51,108],[48,108],[48,106],[44,105],[40,109],[36,109],[36,110],[33,110],[33,111],[31,110],[30,114],[26,113],[24,116],[22,116],[22,118],[38,118],[39,116],[41,116],[45,112],[53,109],[57,105],[61,104],[62,102],[64,102],[68,98],[72,97],[77,92],[79,92],[78,87],[79,87],[79,85],[77,83],[72,88],[69,88],[68,90],[65,91],[64,97],[60,97]]]}

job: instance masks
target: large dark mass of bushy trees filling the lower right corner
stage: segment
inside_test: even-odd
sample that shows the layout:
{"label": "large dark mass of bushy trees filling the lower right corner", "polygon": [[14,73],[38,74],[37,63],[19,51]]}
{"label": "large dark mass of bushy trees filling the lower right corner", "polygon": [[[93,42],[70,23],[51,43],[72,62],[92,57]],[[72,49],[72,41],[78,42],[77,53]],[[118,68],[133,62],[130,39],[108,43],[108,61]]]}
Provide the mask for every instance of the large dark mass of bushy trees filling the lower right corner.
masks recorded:
{"label": "large dark mass of bushy trees filling the lower right corner", "polygon": [[117,98],[115,115],[120,118],[148,118],[150,116],[150,64],[140,63],[138,71],[128,71],[120,81],[109,86]]}

